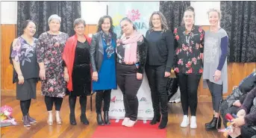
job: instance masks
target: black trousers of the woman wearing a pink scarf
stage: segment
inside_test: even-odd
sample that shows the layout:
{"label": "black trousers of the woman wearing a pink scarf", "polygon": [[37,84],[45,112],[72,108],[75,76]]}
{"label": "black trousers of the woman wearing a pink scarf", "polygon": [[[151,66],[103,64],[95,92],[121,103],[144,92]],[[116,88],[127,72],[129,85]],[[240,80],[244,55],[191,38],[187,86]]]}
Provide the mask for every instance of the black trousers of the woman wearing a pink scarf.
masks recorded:
{"label": "black trousers of the woman wearing a pink scarf", "polygon": [[116,81],[122,91],[125,117],[132,121],[137,120],[139,107],[137,92],[143,80],[137,80],[136,66],[116,63]]}

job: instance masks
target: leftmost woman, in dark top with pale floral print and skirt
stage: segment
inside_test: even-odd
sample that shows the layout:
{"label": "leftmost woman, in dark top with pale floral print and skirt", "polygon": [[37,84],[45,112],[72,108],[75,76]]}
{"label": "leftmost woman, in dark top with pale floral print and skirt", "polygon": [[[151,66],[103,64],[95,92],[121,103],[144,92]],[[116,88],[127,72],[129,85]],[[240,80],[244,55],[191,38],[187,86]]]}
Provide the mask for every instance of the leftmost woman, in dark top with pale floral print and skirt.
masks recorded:
{"label": "leftmost woman, in dark top with pale floral print and skirt", "polygon": [[37,122],[28,114],[31,98],[36,99],[37,81],[39,79],[39,66],[37,63],[37,39],[34,38],[36,25],[27,20],[22,25],[24,33],[13,40],[10,54],[13,63],[13,83],[16,83],[16,98],[20,101],[23,115],[23,125],[30,127]]}

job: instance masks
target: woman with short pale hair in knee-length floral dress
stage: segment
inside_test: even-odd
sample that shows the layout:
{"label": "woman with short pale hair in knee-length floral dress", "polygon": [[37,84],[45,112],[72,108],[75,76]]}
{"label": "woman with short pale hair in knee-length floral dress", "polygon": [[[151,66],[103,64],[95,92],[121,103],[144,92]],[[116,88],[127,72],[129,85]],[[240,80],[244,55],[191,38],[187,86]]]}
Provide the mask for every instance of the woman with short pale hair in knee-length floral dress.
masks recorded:
{"label": "woman with short pale hair in knee-length floral dress", "polygon": [[42,80],[42,94],[45,95],[48,110],[47,123],[52,125],[52,107],[55,105],[57,124],[61,124],[60,107],[66,95],[66,82],[64,80],[63,49],[68,34],[60,32],[60,16],[51,15],[48,19],[50,30],[41,34],[37,43],[37,62],[40,66]]}

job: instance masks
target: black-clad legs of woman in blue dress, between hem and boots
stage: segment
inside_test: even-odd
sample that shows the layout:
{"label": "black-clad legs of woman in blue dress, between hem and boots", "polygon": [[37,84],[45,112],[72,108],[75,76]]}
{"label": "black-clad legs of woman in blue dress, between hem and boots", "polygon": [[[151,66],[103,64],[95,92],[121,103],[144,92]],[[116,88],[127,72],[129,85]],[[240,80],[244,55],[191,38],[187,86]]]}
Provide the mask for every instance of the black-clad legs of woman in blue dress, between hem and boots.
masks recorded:
{"label": "black-clad legs of woman in blue dress, between hem and boots", "polygon": [[96,113],[102,113],[102,101],[104,101],[103,111],[109,111],[111,90],[99,90],[96,92]]}

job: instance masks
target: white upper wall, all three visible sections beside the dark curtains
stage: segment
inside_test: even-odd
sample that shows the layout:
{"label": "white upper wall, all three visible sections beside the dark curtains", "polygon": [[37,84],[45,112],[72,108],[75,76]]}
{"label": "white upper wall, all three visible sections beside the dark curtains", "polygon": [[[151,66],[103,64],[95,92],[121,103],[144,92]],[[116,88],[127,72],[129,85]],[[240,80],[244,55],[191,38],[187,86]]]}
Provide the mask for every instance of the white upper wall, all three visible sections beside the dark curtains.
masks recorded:
{"label": "white upper wall, all three visible sections beside the dark curtains", "polygon": [[[107,1],[81,1],[81,18],[87,24],[96,25],[99,18],[107,14]],[[220,1],[191,1],[195,8],[196,25],[209,25],[207,10],[220,9]],[[17,1],[1,1],[1,24],[16,24]]]}

